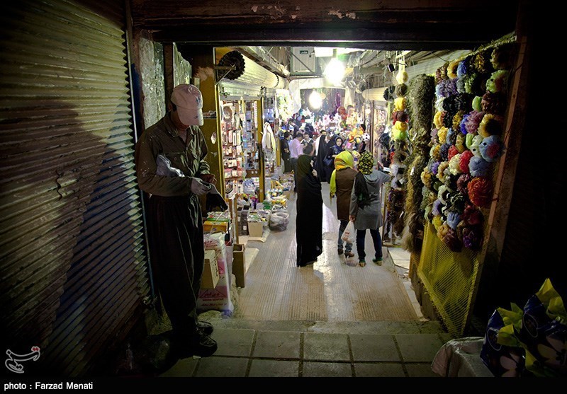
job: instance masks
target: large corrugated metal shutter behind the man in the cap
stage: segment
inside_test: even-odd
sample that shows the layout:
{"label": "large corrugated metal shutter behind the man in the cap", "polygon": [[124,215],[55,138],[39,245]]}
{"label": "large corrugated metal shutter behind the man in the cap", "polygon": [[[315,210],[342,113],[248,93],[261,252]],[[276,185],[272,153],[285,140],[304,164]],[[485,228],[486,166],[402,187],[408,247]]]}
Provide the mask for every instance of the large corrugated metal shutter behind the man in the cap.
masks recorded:
{"label": "large corrugated metal shutter behind the man in the cap", "polygon": [[1,351],[40,345],[35,364],[67,376],[123,339],[149,291],[124,4],[82,3],[0,13]]}

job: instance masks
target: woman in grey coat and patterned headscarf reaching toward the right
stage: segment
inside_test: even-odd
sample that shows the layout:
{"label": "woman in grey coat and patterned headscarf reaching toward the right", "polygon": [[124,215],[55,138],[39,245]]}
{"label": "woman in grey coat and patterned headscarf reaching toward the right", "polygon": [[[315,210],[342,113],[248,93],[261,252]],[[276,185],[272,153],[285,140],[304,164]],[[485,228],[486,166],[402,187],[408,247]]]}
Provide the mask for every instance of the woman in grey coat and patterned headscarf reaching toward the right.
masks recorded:
{"label": "woman in grey coat and patterned headscarf reaching toward the right", "polygon": [[378,228],[382,226],[382,210],[380,209],[380,190],[383,182],[390,180],[390,175],[374,168],[374,158],[371,153],[364,152],[359,159],[359,173],[354,178],[350,199],[350,220],[354,221],[357,230],[357,253],[359,265],[366,265],[364,238],[366,229],[370,230],[374,243],[374,259],[382,265],[382,239]]}

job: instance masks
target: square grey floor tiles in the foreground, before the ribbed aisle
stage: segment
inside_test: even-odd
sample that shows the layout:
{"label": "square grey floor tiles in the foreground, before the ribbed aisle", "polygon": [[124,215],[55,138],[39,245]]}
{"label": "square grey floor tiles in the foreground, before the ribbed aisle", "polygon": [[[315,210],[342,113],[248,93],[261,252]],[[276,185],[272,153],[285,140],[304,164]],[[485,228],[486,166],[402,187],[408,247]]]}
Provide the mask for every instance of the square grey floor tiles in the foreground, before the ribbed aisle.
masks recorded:
{"label": "square grey floor tiles in the foreground, before the ribbed aisle", "polygon": [[436,377],[437,334],[349,334],[216,328],[213,357],[183,359],[162,376]]}

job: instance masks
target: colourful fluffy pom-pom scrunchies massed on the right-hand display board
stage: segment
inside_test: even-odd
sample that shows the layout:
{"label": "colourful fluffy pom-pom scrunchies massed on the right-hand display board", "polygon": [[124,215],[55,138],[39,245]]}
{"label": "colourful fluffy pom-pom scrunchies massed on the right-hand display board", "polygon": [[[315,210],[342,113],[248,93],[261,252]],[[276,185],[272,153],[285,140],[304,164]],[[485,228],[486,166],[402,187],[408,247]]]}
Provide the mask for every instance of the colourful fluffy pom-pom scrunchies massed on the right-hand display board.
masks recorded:
{"label": "colourful fluffy pom-pom scrunchies massed on the right-hand display board", "polygon": [[430,161],[421,173],[425,217],[450,250],[479,250],[502,155],[514,46],[482,50],[437,69]]}

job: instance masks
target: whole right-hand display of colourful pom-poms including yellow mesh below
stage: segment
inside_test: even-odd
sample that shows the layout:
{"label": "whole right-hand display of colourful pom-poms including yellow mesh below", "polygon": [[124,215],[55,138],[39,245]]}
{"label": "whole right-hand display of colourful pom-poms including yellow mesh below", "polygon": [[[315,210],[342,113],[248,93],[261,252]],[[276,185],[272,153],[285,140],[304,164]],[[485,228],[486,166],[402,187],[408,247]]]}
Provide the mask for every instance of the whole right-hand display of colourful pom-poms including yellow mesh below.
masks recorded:
{"label": "whole right-hand display of colourful pom-poms including yellow mesh below", "polygon": [[[425,226],[417,274],[454,335],[462,335],[471,313],[479,252],[489,209],[495,209],[495,168],[505,153],[514,53],[515,42],[507,39],[446,62],[434,76],[429,158],[420,171]],[[415,196],[419,183],[413,186]]]}

